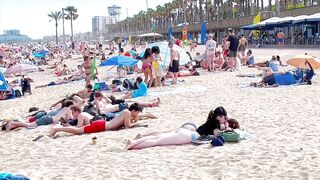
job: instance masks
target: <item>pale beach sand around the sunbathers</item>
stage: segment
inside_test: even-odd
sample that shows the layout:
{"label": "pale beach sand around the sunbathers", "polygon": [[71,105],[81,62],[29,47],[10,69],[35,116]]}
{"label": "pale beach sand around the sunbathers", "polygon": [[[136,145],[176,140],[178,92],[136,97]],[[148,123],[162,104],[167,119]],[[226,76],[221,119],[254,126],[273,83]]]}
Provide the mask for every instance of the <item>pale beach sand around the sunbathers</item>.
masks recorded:
{"label": "pale beach sand around the sunbathers", "polygon": [[[202,48],[202,49],[201,49]],[[197,51],[203,50],[198,47]],[[288,59],[297,53],[319,51],[295,49],[255,49],[260,60],[272,54]],[[78,60],[70,60],[75,65]],[[289,67],[288,67],[289,68]],[[100,76],[107,68],[99,68]],[[237,74],[258,73],[243,68],[240,72],[202,73],[183,78],[171,87],[151,89],[151,100],[162,104],[148,108],[158,116],[146,120],[147,128],[134,128],[57,139],[44,137],[51,126],[0,132],[0,171],[20,173],[31,179],[317,179],[320,173],[320,93],[319,76],[312,86],[249,88],[243,84],[260,78],[239,78]],[[30,74],[35,85],[54,80],[45,73]],[[47,109],[54,101],[84,87],[84,82],[33,90],[31,96],[1,101],[0,117],[27,114],[29,107]],[[170,89],[171,88],[171,89]],[[168,93],[169,92],[169,93]],[[171,93],[170,93],[171,92]],[[224,106],[239,120],[241,128],[255,136],[222,147],[183,145],[126,151],[127,139],[137,133],[165,131],[184,122],[205,122],[211,109]],[[91,145],[91,138],[97,144]]]}

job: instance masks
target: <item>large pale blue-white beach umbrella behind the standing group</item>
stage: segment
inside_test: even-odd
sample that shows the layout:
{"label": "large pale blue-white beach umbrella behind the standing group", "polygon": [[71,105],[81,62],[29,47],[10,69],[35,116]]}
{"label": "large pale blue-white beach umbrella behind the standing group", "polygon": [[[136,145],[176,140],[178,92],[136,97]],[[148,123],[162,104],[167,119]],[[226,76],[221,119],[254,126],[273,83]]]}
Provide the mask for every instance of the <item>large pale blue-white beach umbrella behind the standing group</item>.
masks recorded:
{"label": "large pale blue-white beach umbrella behind the standing group", "polygon": [[[153,46],[158,46],[160,49],[161,62],[160,64],[169,66],[170,64],[170,48],[168,46],[168,42],[155,42],[148,44],[148,48],[152,48]],[[180,65],[187,64],[190,61],[190,57],[187,54],[187,51],[176,44],[173,45],[173,48],[176,49],[180,54]],[[144,52],[143,52],[144,54]],[[143,56],[143,55],[141,55]]]}

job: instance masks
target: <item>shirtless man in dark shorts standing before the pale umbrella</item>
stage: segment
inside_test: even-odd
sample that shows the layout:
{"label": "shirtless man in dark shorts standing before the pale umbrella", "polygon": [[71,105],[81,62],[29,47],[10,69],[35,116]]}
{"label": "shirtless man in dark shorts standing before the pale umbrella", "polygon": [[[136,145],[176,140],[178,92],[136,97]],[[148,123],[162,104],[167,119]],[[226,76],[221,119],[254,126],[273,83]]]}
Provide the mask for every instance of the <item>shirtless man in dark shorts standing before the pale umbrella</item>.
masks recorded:
{"label": "shirtless man in dark shorts standing before the pale umbrella", "polygon": [[173,79],[173,83],[176,84],[179,73],[180,54],[176,49],[173,48],[172,42],[169,42],[168,46],[170,48],[170,64],[168,75]]}

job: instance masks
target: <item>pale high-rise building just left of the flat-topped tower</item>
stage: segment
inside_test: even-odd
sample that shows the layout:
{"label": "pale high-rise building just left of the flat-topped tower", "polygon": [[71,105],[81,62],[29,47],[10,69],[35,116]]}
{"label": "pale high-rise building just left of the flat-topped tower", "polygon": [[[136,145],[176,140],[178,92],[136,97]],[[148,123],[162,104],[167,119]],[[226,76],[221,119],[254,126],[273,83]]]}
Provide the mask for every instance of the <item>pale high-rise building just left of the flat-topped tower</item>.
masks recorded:
{"label": "pale high-rise building just left of the flat-topped tower", "polygon": [[92,18],[92,34],[97,39],[107,33],[107,17],[94,16]]}

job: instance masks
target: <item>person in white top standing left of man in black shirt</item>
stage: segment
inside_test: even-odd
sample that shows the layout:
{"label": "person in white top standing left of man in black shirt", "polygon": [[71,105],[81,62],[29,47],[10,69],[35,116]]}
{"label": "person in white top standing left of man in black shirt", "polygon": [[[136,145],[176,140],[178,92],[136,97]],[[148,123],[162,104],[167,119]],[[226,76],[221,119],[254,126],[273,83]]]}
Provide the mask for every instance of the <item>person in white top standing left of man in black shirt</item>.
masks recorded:
{"label": "person in white top standing left of man in black shirt", "polygon": [[206,43],[208,71],[214,71],[214,67],[215,67],[214,61],[216,56],[217,42],[212,38],[213,38],[213,35],[209,34],[208,41]]}

